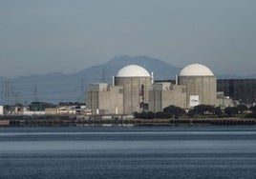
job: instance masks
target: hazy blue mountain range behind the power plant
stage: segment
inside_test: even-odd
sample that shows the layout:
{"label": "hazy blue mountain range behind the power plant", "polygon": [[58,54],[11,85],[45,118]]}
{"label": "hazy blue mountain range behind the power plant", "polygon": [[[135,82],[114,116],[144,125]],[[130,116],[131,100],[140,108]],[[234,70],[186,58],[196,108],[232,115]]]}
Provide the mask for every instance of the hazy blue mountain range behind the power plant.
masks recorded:
{"label": "hazy blue mountain range behind the power plant", "polygon": [[3,78],[0,104],[29,104],[32,101],[84,102],[89,84],[107,82],[112,84],[112,77],[127,65],[139,65],[149,72],[154,72],[156,80],[174,79],[181,70],[156,58],[147,56],[120,55],[111,61],[80,70],[73,74],[50,73],[45,75],[20,76],[14,79]]}

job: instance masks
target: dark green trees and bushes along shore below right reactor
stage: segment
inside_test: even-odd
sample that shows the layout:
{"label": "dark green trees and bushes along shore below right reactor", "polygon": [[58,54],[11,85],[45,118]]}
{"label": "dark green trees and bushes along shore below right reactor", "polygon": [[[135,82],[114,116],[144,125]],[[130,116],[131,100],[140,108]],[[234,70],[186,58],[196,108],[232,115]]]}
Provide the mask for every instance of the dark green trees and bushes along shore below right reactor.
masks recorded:
{"label": "dark green trees and bushes along shore below right reactor", "polygon": [[247,108],[245,105],[236,107],[213,107],[199,105],[193,109],[184,110],[176,106],[168,106],[162,111],[134,112],[135,118],[139,119],[168,119],[168,118],[256,118],[256,107]]}

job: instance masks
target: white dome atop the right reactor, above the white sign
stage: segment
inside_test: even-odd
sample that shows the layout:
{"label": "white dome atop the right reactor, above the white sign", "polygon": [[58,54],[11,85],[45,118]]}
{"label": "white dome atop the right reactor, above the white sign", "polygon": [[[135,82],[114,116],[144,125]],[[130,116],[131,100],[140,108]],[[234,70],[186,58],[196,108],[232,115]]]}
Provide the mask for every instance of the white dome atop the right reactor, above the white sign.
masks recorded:
{"label": "white dome atop the right reactor, above the white sign", "polygon": [[191,64],[181,70],[180,76],[214,76],[214,74],[201,64]]}

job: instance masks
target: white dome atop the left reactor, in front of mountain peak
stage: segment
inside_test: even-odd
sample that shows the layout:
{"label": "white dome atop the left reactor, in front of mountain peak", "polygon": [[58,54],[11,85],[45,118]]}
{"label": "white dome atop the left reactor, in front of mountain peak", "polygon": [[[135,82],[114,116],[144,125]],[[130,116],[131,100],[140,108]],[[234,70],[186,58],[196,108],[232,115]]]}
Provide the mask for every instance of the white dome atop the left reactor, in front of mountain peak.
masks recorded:
{"label": "white dome atop the left reactor, in front of mountain peak", "polygon": [[119,70],[117,77],[150,77],[150,74],[138,65],[129,65]]}

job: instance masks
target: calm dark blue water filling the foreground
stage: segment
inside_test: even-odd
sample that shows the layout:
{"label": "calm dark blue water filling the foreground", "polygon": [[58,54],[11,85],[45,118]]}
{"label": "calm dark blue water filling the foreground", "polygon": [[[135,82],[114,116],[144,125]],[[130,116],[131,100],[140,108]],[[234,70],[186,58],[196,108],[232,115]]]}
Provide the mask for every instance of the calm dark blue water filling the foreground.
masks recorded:
{"label": "calm dark blue water filling the foreground", "polygon": [[256,178],[256,127],[0,128],[0,179]]}

